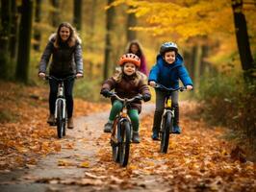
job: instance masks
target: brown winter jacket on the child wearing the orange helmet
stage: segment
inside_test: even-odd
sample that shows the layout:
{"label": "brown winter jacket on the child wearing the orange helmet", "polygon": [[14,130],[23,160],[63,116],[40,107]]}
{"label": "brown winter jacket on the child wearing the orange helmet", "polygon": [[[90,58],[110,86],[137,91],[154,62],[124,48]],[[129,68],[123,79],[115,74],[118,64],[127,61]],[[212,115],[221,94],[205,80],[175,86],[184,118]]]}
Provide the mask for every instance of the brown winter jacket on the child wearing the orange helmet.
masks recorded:
{"label": "brown winter jacket on the child wearing the orange helmet", "polygon": [[[120,74],[121,74],[120,81],[116,81],[115,76],[112,78],[109,78],[102,85],[102,90],[103,89],[108,89],[108,90],[115,89],[115,93],[120,98],[132,98],[132,97],[138,95],[139,93],[141,93],[142,95],[144,95],[144,94],[151,95],[148,85],[147,85],[147,78],[144,74],[142,74],[139,71],[137,71],[136,74],[133,76],[126,76],[123,73],[120,73]],[[118,74],[118,75],[120,75],[120,74]],[[114,101],[115,101],[115,99],[113,99],[113,102]],[[141,112],[141,101],[132,102],[131,105],[129,106],[129,108],[138,109],[139,113],[140,113]]]}

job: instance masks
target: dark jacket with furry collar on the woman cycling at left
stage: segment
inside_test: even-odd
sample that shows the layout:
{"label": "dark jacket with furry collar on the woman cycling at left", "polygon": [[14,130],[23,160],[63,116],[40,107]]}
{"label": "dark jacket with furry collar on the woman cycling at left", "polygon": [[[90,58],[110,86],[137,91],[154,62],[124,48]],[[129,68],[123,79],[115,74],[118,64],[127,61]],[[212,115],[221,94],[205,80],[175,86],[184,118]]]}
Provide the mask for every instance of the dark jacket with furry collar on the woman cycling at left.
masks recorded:
{"label": "dark jacket with furry collar on the woman cycling at left", "polygon": [[81,39],[77,38],[73,47],[66,42],[61,42],[59,47],[54,47],[56,34],[49,37],[49,42],[39,61],[39,73],[45,73],[48,62],[52,56],[49,73],[57,78],[64,78],[76,73],[83,74],[83,58]]}

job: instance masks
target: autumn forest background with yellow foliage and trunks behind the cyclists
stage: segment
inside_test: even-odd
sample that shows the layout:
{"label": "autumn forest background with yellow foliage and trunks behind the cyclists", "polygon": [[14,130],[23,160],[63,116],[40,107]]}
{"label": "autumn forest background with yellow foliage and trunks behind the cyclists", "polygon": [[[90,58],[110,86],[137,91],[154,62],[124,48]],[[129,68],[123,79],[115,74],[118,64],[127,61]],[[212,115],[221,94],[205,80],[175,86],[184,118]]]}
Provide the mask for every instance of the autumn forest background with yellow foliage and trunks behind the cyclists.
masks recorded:
{"label": "autumn forest background with yellow foliage and trunks behind the cyclists", "polygon": [[[1,81],[43,85],[38,61],[63,21],[83,40],[85,77],[75,95],[93,102],[102,100],[100,86],[130,40],[141,42],[148,69],[160,45],[174,41],[200,116],[230,128],[229,137],[255,153],[255,0],[1,0],[0,6]],[[0,121],[8,115],[1,110]]]}

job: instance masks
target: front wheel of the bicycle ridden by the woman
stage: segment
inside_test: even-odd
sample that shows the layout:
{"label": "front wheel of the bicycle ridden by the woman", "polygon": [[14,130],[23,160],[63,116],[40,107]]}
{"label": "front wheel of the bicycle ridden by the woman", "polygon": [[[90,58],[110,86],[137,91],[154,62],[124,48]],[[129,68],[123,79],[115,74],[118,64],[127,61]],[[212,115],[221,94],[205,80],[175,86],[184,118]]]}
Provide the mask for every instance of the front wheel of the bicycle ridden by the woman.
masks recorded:
{"label": "front wheel of the bicycle ridden by the woman", "polygon": [[65,119],[63,117],[63,108],[64,108],[64,103],[62,100],[57,102],[57,119],[56,119],[56,124],[57,124],[57,134],[59,138],[62,138],[64,136],[64,124],[65,124]]}

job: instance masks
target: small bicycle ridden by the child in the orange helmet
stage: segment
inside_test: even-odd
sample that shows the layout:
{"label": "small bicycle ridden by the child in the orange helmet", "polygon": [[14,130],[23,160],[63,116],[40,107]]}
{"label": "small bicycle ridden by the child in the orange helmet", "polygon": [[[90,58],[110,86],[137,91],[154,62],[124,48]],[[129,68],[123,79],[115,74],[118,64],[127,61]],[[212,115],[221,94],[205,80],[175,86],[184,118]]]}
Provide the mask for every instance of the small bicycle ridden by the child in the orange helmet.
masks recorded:
{"label": "small bicycle ridden by the child in the orange helmet", "polygon": [[123,104],[121,111],[115,117],[110,143],[114,161],[125,167],[128,164],[133,130],[131,120],[127,114],[127,107],[133,101],[142,100],[142,95],[139,94],[128,99],[120,98],[114,92],[110,92],[110,97],[115,97]]}

